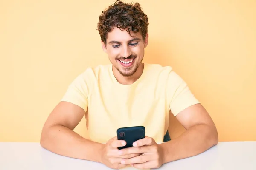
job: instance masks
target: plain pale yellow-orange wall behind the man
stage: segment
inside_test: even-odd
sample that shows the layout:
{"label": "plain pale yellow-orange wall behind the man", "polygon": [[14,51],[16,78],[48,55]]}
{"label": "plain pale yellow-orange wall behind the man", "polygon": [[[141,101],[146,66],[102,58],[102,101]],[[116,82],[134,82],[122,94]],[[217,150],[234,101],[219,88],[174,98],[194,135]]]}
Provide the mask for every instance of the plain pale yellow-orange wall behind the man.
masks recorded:
{"label": "plain pale yellow-orange wall behind the man", "polygon": [[[70,82],[109,63],[96,26],[112,2],[0,0],[0,141],[39,142]],[[150,23],[144,62],[183,77],[220,141],[256,140],[256,1],[139,2]],[[85,127],[75,130],[85,136]],[[184,129],[172,117],[169,130],[175,138]]]}

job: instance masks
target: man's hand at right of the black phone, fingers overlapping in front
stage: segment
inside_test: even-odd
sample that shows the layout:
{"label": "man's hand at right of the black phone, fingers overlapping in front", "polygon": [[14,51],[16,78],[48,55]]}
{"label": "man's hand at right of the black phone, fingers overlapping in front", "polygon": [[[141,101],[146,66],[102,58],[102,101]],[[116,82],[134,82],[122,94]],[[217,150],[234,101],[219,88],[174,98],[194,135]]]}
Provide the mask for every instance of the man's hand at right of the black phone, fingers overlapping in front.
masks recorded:
{"label": "man's hand at right of the black phone, fingers overlapping in front", "polygon": [[159,168],[163,164],[163,148],[153,138],[146,136],[134,142],[133,147],[119,150],[121,156],[136,153],[143,154],[129,159],[122,159],[121,163],[123,165],[131,164],[139,169]]}

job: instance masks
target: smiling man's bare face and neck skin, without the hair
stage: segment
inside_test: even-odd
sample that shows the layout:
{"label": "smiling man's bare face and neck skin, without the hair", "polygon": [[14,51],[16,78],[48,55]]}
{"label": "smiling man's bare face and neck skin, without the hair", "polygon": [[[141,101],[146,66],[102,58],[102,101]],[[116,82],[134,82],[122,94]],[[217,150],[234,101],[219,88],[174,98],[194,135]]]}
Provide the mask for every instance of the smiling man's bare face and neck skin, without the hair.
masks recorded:
{"label": "smiling man's bare face and neck skin, without the hair", "polygon": [[[108,54],[113,65],[113,74],[121,84],[132,84],[143,72],[144,49],[148,45],[148,34],[145,40],[140,33],[128,34],[126,30],[113,28],[108,33],[106,44],[102,43],[102,49]],[[131,67],[123,67],[119,60],[129,61],[133,59]]]}

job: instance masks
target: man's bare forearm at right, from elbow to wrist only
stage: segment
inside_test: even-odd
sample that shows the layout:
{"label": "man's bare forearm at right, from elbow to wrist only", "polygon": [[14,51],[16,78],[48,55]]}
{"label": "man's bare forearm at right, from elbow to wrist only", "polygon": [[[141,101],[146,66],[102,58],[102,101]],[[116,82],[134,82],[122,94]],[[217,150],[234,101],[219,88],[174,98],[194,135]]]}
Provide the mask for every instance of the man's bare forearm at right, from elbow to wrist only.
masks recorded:
{"label": "man's bare forearm at right, from elbow to wrist only", "polygon": [[213,127],[199,124],[186,130],[180,137],[160,144],[164,163],[198,155],[218,143]]}

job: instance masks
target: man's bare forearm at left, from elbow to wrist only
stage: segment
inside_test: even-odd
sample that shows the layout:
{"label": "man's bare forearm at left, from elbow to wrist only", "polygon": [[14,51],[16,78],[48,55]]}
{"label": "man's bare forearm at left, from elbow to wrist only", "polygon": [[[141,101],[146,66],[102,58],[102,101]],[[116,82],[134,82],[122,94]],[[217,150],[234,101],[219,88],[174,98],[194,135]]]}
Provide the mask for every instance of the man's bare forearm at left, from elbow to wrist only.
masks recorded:
{"label": "man's bare forearm at left, from elbow to wrist only", "polygon": [[84,139],[73,130],[61,125],[49,127],[41,136],[41,146],[53,153],[100,162],[104,144]]}

